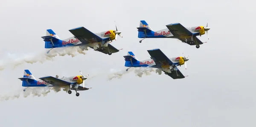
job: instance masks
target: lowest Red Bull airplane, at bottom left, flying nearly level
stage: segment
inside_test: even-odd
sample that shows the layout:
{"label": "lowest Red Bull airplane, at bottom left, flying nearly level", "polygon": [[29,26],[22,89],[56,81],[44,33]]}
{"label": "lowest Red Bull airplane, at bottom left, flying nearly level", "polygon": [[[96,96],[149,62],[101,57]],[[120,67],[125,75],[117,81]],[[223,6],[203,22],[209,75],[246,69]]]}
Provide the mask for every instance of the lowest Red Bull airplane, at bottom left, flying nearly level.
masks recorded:
{"label": "lowest Red Bull airplane, at bottom left, flying nearly level", "polygon": [[[81,73],[81,71],[80,71]],[[76,96],[79,96],[79,93],[77,91],[81,90],[89,90],[90,88],[84,87],[84,80],[87,79],[88,74],[84,77],[83,74],[79,76],[70,76],[62,78],[58,78],[58,75],[56,77],[52,76],[45,76],[39,78],[39,80],[36,80],[35,77],[32,75],[32,73],[29,70],[24,70],[23,78],[18,78],[22,81],[22,86],[26,87],[23,91],[26,91],[28,87],[66,87],[69,86],[69,90],[67,93],[71,94],[71,90],[76,90]],[[80,84],[83,83],[83,86],[80,86]]]}

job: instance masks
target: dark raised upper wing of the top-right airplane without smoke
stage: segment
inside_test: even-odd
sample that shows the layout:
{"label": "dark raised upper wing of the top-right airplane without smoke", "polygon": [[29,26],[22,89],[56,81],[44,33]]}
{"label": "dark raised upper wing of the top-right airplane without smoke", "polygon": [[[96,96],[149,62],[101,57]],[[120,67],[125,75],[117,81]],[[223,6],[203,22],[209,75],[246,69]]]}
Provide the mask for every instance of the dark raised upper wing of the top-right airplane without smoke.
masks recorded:
{"label": "dark raised upper wing of the top-right airplane without smoke", "polygon": [[189,31],[180,23],[169,24],[169,25],[166,25],[166,27],[174,36],[177,36],[177,37],[191,36],[193,34],[191,31]]}

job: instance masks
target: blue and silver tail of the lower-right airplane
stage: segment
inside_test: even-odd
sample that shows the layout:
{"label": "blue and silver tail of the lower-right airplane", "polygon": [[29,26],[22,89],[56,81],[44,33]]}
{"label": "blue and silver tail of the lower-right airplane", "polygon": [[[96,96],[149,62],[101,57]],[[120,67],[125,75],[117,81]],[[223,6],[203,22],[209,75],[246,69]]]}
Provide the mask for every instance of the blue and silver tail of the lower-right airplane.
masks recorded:
{"label": "blue and silver tail of the lower-right airplane", "polygon": [[124,58],[125,58],[125,67],[136,67],[140,65],[140,61],[131,51],[129,51],[127,56],[124,56]]}

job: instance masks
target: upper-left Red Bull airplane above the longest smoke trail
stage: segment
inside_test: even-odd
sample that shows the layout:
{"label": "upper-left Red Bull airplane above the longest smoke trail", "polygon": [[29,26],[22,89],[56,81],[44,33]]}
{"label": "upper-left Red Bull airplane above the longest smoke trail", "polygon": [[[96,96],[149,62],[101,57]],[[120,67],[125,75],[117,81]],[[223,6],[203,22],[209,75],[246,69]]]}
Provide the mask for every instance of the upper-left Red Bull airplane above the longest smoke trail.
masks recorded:
{"label": "upper-left Red Bull airplane above the longest smoke trail", "polygon": [[[73,29],[70,29],[69,31],[74,35],[74,37],[61,40],[58,37],[58,35],[55,34],[54,31],[52,31],[52,29],[47,29],[46,36],[42,37],[45,41],[44,48],[51,48],[50,50],[52,50],[53,48],[82,46],[82,45],[87,45],[90,48],[93,48],[92,45],[97,44],[99,45],[99,48],[93,48],[94,51],[100,51],[108,55],[111,55],[112,53],[116,53],[119,50],[122,50],[122,49],[118,50],[109,44],[110,42],[112,42],[112,40],[117,39],[116,35],[119,35],[120,37],[122,37],[121,31],[118,31],[117,27],[116,27],[116,31],[108,30],[100,33],[92,33],[91,31],[87,30],[84,27],[73,28]],[[49,53],[49,51],[47,51],[47,54]]]}

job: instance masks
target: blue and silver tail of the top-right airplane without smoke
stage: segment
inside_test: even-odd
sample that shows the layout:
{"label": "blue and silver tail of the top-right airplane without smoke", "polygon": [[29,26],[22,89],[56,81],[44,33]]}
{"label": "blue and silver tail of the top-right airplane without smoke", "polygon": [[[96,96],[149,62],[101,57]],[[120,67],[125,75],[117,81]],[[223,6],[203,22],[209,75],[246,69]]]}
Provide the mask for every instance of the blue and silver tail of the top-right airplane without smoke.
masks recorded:
{"label": "blue and silver tail of the top-right airplane without smoke", "polygon": [[140,27],[138,29],[138,38],[145,38],[147,35],[150,35],[151,32],[154,32],[148,23],[144,20],[140,21]]}

